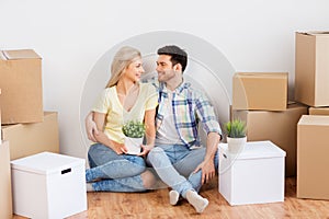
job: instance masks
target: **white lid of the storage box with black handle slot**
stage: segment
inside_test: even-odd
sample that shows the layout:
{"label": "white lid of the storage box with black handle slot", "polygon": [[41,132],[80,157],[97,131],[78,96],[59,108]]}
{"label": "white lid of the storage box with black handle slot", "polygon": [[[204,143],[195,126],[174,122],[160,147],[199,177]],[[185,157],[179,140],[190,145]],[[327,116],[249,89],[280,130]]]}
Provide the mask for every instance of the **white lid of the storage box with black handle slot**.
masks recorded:
{"label": "white lid of the storage box with black handle slot", "polygon": [[84,159],[53,152],[42,152],[11,161],[11,168],[13,170],[45,175],[65,171],[77,165],[84,166]]}

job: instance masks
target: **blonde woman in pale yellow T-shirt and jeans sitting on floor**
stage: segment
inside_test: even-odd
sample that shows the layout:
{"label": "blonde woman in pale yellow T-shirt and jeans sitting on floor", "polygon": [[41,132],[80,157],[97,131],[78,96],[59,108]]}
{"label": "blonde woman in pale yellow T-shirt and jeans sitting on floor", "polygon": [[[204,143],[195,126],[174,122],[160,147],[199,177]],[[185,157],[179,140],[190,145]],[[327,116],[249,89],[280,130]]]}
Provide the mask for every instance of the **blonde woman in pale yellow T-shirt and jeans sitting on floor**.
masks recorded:
{"label": "blonde woman in pale yellow T-shirt and jeans sitting on floor", "polygon": [[[88,151],[88,191],[141,192],[155,183],[141,155],[154,148],[158,96],[151,84],[139,83],[141,73],[140,53],[122,47],[113,58],[110,81],[92,108],[98,135],[97,143]],[[143,151],[137,155],[126,153],[122,131],[124,123],[132,119],[146,126],[147,143],[141,145]]]}

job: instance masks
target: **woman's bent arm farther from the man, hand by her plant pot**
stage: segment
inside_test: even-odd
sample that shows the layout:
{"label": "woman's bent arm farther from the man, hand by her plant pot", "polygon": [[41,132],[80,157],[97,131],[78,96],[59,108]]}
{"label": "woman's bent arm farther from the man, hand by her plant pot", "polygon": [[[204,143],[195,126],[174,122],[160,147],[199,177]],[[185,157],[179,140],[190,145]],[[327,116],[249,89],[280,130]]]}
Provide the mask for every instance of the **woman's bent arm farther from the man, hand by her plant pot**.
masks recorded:
{"label": "woman's bent arm farther from the man, hand by her plant pot", "polygon": [[116,141],[113,141],[104,134],[105,119],[106,119],[106,114],[93,112],[93,120],[99,131],[99,135],[94,135],[95,140],[113,149],[117,154],[127,152],[127,149],[125,148],[124,143],[118,143]]}

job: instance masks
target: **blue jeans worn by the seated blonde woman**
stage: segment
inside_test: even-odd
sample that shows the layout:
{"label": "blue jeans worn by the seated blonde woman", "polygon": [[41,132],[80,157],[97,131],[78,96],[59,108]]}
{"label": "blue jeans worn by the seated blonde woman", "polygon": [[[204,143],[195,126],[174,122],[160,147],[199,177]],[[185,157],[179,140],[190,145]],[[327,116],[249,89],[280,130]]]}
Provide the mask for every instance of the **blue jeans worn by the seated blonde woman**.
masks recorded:
{"label": "blue jeans worn by the seated blonde woman", "polygon": [[92,183],[94,191],[146,191],[140,176],[146,170],[141,157],[117,154],[111,148],[95,143],[88,151],[88,160],[90,169],[86,170],[86,181]]}

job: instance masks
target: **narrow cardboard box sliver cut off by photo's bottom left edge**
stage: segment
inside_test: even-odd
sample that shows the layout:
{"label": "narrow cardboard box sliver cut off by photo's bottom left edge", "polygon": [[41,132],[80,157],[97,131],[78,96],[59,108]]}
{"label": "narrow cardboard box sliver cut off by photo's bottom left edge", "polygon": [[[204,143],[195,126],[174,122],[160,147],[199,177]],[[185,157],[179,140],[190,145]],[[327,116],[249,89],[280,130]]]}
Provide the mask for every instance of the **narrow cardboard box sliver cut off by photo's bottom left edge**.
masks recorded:
{"label": "narrow cardboard box sliver cut off by photo's bottom left edge", "polygon": [[11,172],[9,141],[0,140],[0,218],[12,218]]}

